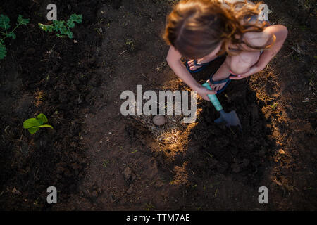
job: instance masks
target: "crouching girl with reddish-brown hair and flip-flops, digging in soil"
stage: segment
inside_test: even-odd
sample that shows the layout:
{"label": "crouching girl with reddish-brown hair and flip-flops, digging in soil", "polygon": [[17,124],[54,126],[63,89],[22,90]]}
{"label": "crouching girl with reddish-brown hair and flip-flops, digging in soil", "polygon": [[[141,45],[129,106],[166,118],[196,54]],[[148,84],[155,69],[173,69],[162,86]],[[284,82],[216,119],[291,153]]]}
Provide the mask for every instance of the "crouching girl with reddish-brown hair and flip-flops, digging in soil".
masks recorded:
{"label": "crouching girl with reddish-brown hair and flip-flops, digging in soil", "polygon": [[[261,3],[240,0],[182,0],[168,15],[165,41],[170,45],[168,65],[183,82],[209,101],[231,79],[242,79],[266,68],[287,37],[283,25],[261,20]],[[260,6],[260,7],[259,7]],[[225,53],[225,62],[201,86],[189,72],[198,72]],[[185,57],[186,67],[181,58]]]}

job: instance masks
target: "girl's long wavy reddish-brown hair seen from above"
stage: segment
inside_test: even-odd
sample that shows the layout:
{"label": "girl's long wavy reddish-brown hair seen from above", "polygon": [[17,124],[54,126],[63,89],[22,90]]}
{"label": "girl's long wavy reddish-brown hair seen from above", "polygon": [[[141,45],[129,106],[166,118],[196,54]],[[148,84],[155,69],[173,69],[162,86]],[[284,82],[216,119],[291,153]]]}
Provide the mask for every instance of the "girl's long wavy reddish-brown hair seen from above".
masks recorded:
{"label": "girl's long wavy reddish-brown hair seen from above", "polygon": [[[182,0],[173,6],[173,11],[166,19],[166,29],[163,39],[168,45],[173,45],[186,58],[203,58],[221,44],[218,55],[228,53],[235,55],[244,51],[243,45],[254,51],[270,48],[275,42],[265,46],[250,46],[242,37],[246,32],[262,32],[267,22],[250,23],[252,16],[259,15],[260,4],[250,4],[246,1],[235,3],[218,0]],[[237,49],[230,49],[230,46]]]}

